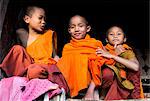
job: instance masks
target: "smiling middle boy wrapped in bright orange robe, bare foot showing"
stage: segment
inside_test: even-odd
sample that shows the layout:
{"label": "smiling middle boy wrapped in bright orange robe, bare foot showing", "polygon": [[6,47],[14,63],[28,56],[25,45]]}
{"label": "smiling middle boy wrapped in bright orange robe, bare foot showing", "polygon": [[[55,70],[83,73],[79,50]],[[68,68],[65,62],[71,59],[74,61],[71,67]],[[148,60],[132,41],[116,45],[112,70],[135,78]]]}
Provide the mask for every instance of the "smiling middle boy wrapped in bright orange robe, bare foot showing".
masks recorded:
{"label": "smiling middle boy wrapped in bright orange robe, bare foot showing", "polygon": [[102,48],[103,45],[101,41],[90,37],[90,30],[91,26],[84,17],[71,17],[68,28],[71,40],[64,46],[57,66],[68,83],[72,98],[76,98],[80,91],[87,89],[84,98],[98,100],[98,92],[88,70],[88,58],[91,54],[95,55],[97,47]]}

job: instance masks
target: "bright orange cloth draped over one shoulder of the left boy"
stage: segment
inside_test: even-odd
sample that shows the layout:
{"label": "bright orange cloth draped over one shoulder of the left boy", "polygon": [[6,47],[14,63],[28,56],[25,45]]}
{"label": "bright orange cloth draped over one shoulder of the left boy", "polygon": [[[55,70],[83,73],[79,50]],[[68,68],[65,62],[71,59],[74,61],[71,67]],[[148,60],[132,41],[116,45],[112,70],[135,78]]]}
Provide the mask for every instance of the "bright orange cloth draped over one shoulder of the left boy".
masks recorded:
{"label": "bright orange cloth draped over one shoulder of the left boy", "polygon": [[53,31],[48,30],[41,34],[34,42],[26,47],[27,53],[34,59],[35,63],[56,64],[52,57]]}

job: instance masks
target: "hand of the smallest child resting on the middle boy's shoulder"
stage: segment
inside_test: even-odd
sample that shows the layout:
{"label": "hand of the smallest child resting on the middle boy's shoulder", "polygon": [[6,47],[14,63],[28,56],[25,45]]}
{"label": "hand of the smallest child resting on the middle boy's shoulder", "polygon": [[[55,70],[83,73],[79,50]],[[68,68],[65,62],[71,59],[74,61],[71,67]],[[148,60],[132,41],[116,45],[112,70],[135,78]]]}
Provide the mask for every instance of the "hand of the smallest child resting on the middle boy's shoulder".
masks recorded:
{"label": "hand of the smallest child resting on the middle boy's shoulder", "polygon": [[107,52],[107,51],[104,51],[103,49],[101,49],[101,48],[97,48],[97,50],[96,50],[96,54],[98,55],[98,56],[103,56],[103,57],[106,57],[106,58],[113,58],[113,55],[112,54],[110,54],[109,52]]}

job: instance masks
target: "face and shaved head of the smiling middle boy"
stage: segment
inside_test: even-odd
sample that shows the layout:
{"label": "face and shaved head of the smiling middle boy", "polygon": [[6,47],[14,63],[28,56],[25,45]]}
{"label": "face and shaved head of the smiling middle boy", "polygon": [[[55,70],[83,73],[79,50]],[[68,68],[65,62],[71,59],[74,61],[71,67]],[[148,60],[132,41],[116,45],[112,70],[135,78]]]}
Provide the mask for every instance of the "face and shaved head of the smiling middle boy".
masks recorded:
{"label": "face and shaved head of the smiling middle boy", "polygon": [[90,31],[90,26],[87,26],[86,21],[81,16],[74,16],[70,20],[69,33],[77,40],[84,39],[86,33]]}

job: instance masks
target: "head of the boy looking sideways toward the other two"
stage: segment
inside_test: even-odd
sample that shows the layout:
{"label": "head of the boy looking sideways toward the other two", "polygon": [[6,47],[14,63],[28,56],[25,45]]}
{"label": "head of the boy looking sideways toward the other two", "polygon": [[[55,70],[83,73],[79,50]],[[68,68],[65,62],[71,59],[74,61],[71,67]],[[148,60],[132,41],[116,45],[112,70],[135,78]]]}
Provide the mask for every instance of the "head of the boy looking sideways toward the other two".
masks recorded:
{"label": "head of the boy looking sideways toward the other two", "polygon": [[32,16],[28,16],[26,23],[29,28],[36,31],[43,31],[45,28],[45,11],[42,8],[34,8]]}

